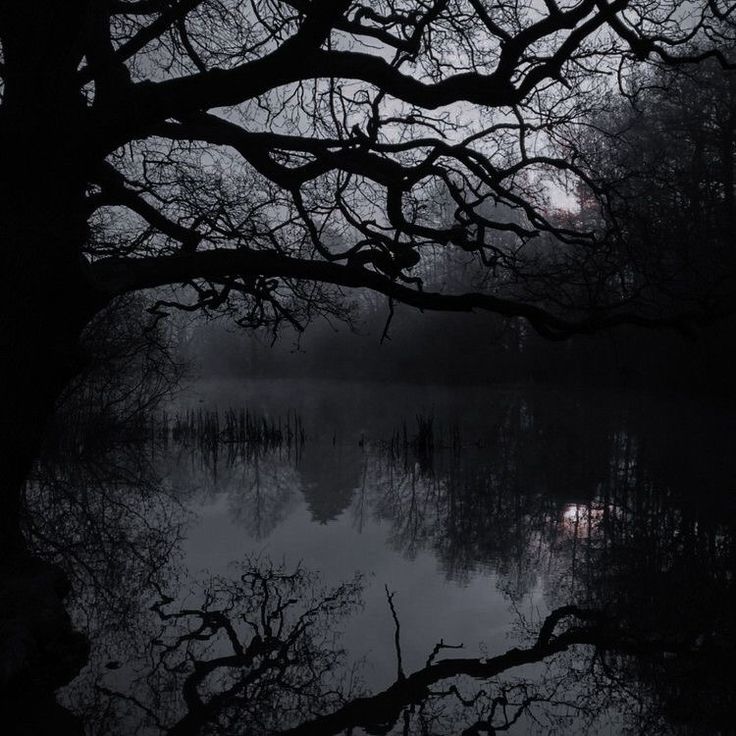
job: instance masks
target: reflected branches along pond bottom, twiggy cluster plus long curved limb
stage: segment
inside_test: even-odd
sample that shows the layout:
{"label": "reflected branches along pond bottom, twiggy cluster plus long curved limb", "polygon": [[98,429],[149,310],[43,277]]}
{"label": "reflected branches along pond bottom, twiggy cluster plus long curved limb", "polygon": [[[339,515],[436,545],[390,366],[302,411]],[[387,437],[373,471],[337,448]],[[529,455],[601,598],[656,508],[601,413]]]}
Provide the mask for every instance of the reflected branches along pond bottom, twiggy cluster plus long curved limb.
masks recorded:
{"label": "reflected branches along pond bottom, twiggy cluster plus long curved limb", "polygon": [[[161,596],[152,606],[160,630],[150,669],[125,689],[97,683],[102,694],[94,733],[488,734],[526,719],[544,733],[594,732],[612,708],[641,707],[621,678],[622,664],[656,667],[692,653],[679,638],[642,637],[626,622],[575,605],[553,610],[528,644],[495,656],[445,656],[462,645],[437,643],[426,663],[401,666],[367,693],[346,665],[339,630],[361,604],[360,577],[331,588],[303,568],[246,560],[234,578],[214,577],[192,603]],[[532,665],[544,665],[529,673]],[[523,669],[525,668],[526,669]],[[537,667],[538,669],[538,667]],[[515,674],[520,673],[520,674]],[[109,678],[107,678],[109,680]],[[137,711],[135,726],[124,715]],[[641,714],[639,714],[641,715]],[[530,720],[531,719],[531,720]],[[647,733],[661,724],[650,720]]]}

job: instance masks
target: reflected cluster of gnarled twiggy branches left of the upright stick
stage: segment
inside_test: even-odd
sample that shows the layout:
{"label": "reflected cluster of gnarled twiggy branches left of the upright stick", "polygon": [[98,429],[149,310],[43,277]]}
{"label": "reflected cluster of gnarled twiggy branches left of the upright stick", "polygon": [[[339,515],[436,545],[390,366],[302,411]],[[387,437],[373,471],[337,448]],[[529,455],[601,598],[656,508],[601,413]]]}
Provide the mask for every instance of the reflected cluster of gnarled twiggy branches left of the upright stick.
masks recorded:
{"label": "reflected cluster of gnarled twiggy branches left of the upright stick", "polygon": [[182,735],[274,733],[339,708],[357,681],[340,669],[336,627],[360,605],[361,590],[360,576],[328,589],[301,567],[251,560],[234,578],[208,580],[197,604],[161,596],[150,671],[127,692],[98,685],[108,697],[102,712],[132,703],[136,732]]}

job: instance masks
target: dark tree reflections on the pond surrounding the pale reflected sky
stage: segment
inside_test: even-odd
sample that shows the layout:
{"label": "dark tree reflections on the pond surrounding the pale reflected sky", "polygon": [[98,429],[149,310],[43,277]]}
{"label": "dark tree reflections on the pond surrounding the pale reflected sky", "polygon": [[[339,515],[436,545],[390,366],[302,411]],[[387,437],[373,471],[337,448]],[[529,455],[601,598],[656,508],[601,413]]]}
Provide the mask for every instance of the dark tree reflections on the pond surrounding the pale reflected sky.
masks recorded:
{"label": "dark tree reflections on the pond surrounding the pale reflected sky", "polygon": [[[68,569],[74,615],[94,646],[65,702],[100,734],[482,734],[522,722],[594,732],[599,712],[624,713],[645,733],[727,730],[728,427],[683,440],[664,431],[667,416],[528,396],[494,418],[482,436],[425,424],[421,441],[409,432],[398,445],[339,452],[212,452],[159,438],[41,466],[29,532]],[[495,656],[446,656],[450,645],[427,642],[423,667],[399,666],[391,685],[367,692],[337,635],[360,606],[359,579],[324,588],[303,568],[249,560],[234,577],[193,584],[176,565],[194,498],[223,495],[261,538],[299,490],[313,519],[349,504],[359,523],[388,526],[404,554],[432,550],[453,579],[493,572],[516,602],[541,588],[547,618],[527,622],[524,647]],[[389,607],[400,653],[401,610]]]}

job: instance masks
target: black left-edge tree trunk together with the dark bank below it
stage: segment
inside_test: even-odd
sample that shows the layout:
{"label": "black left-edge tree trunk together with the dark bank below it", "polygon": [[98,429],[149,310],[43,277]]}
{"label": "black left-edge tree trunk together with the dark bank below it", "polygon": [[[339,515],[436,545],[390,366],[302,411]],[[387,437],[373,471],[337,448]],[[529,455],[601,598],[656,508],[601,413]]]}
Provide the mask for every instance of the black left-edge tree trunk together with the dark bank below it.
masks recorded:
{"label": "black left-edge tree trunk together with the dark bank below it", "polygon": [[53,692],[84,664],[86,642],[64,611],[64,574],[25,550],[20,517],[81,332],[105,302],[83,258],[83,13],[81,0],[0,3],[0,714],[13,733],[81,731]]}

